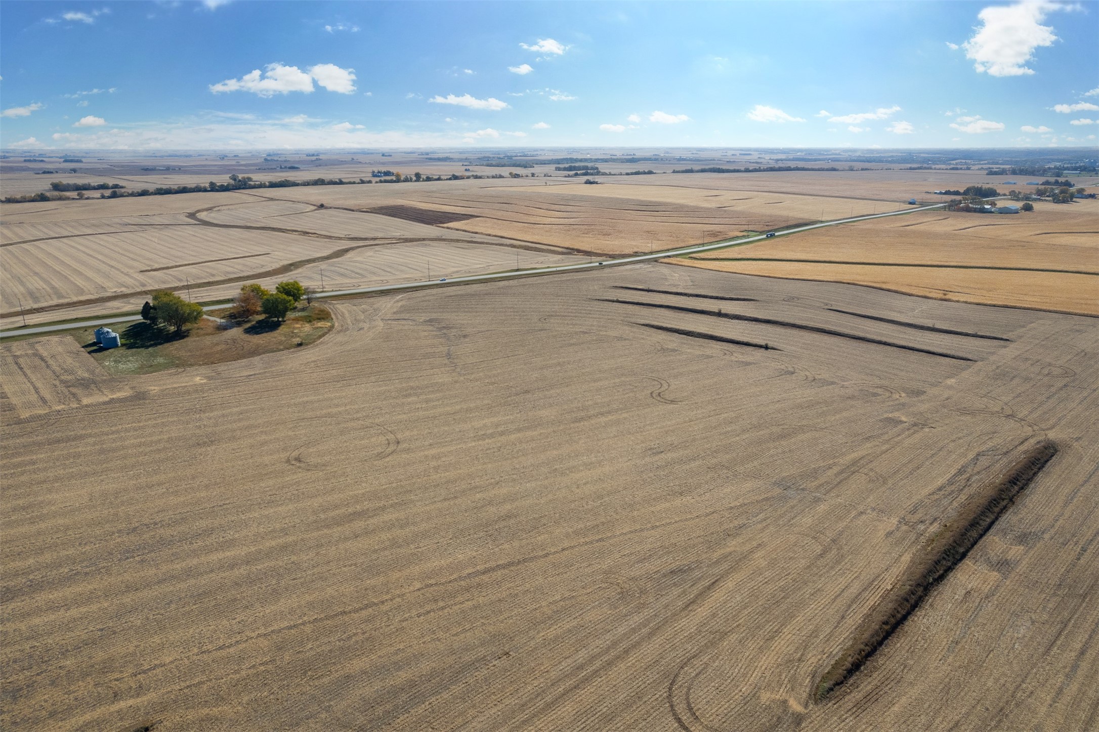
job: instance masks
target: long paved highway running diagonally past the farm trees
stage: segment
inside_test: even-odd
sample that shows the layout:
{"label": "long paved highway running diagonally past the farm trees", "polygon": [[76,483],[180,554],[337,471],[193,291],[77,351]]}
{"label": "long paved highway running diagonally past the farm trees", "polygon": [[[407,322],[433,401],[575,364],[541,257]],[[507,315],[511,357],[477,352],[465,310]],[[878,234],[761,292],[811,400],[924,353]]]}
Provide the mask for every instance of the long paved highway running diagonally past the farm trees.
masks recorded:
{"label": "long paved highway running diagonally past the farm trees", "polygon": [[[989,199],[992,200],[992,199]],[[812,231],[813,229],[823,229],[824,226],[836,226],[839,224],[852,223],[854,221],[867,221],[869,219],[884,219],[886,217],[899,217],[906,213],[914,213],[917,211],[929,211],[932,209],[942,208],[944,203],[935,203],[934,206],[917,206],[910,209],[900,209],[899,211],[887,211],[886,213],[872,213],[865,217],[851,217],[848,219],[837,219],[835,221],[822,221],[820,223],[808,224],[806,226],[798,226],[797,229],[787,229],[786,231],[777,232],[777,236],[786,236],[787,234],[797,234],[803,231]],[[357,287],[351,290],[330,290],[328,292],[319,292],[317,298],[336,298],[346,295],[366,295],[369,292],[389,292],[393,290],[414,290],[425,287],[436,287],[440,285],[452,285],[455,282],[482,282],[485,280],[491,279],[507,279],[509,277],[515,277],[518,275],[550,275],[559,271],[576,271],[578,269],[601,269],[604,267],[618,267],[626,264],[635,264],[637,262],[652,262],[654,259],[663,259],[665,257],[675,257],[681,254],[695,254],[696,252],[709,252],[711,249],[721,249],[728,246],[741,246],[742,244],[751,244],[752,242],[758,242],[767,239],[767,234],[759,234],[757,236],[748,236],[746,239],[726,240],[723,242],[718,242],[715,244],[698,244],[695,246],[685,246],[679,249],[665,249],[663,252],[654,252],[653,254],[637,254],[629,257],[620,257],[618,259],[606,259],[600,262],[581,262],[574,265],[560,265],[558,267],[542,267],[537,269],[521,269],[511,271],[498,271],[490,275],[468,275],[466,277],[445,277],[441,279],[429,279],[419,282],[402,282],[400,285],[377,285],[375,287]],[[226,307],[223,304],[206,306],[203,310],[218,310],[220,308]],[[59,325],[37,325],[34,328],[20,328],[7,331],[0,331],[0,339],[11,335],[33,335],[35,333],[52,333],[54,331],[69,331],[77,328],[90,328],[92,325],[110,325],[112,323],[129,323],[135,320],[141,320],[141,315],[134,313],[133,315],[116,315],[114,318],[102,318],[99,320],[84,320],[79,323],[62,323]]]}

